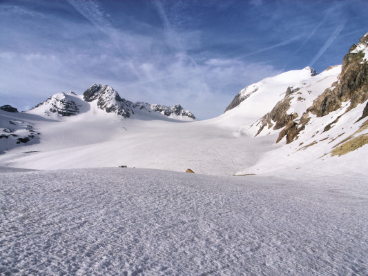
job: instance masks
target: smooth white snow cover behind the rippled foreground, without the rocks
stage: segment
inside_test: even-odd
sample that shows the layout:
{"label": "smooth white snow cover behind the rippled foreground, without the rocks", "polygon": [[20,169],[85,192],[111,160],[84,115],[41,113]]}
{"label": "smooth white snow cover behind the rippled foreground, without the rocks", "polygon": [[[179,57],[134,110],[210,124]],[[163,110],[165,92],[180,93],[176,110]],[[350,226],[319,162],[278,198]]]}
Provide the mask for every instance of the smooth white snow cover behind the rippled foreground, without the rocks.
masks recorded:
{"label": "smooth white snow cover behind the rippled foreground, without the rocks", "polygon": [[[159,112],[147,112],[149,108],[157,108],[149,104],[142,109],[132,107],[132,110],[135,110],[133,117],[122,119],[122,116],[115,112],[106,112],[99,108],[97,99],[85,101],[87,105],[81,106],[78,115],[61,117],[52,112],[50,115],[59,118],[57,123],[50,120],[37,122],[41,143],[26,147],[18,145],[21,147],[9,151],[6,155],[0,155],[0,163],[3,166],[33,169],[121,165],[177,171],[191,168],[195,172],[208,175],[248,173],[277,175],[283,171],[289,173],[291,177],[297,168],[300,175],[305,175],[316,168],[324,168],[320,170],[320,175],[326,175],[340,170],[338,167],[341,166],[345,170],[367,174],[364,163],[359,161],[363,153],[356,155],[356,152],[353,152],[348,158],[345,156],[318,159],[329,153],[333,146],[349,137],[360,126],[356,124],[338,137],[341,128],[346,124],[346,120],[341,120],[338,122],[341,125],[332,128],[327,137],[322,131],[323,128],[341,112],[345,112],[342,109],[337,111],[336,115],[328,117],[329,119],[312,117],[311,122],[316,123],[308,125],[302,133],[303,136],[290,145],[285,145],[284,141],[276,144],[281,129],[273,130],[268,126],[254,137],[260,128],[257,125],[260,121],[255,121],[254,118],[260,118],[269,112],[279,99],[284,99],[288,88],[296,92],[289,95],[291,106],[287,112],[295,112],[300,118],[301,110],[310,106],[321,91],[332,86],[339,71],[340,66],[335,66],[311,77],[311,70],[303,69],[266,79],[260,82],[262,86],[258,84],[260,86],[258,91],[239,106],[220,117],[206,121],[172,120]],[[82,101],[82,96],[68,95],[68,97],[77,98],[75,102]],[[261,100],[264,106],[260,105],[258,110],[254,111],[251,107]],[[144,103],[137,104],[144,105]],[[351,116],[361,114],[362,108],[364,105],[353,110],[354,114],[351,113]],[[36,111],[37,108],[18,116],[26,118],[30,116],[29,113]],[[4,113],[12,116],[12,113]],[[41,115],[42,112],[37,114]],[[315,137],[316,135],[318,137]],[[314,140],[322,141],[318,145],[308,146]],[[328,144],[329,142],[331,143]],[[336,161],[333,161],[336,158],[341,161],[338,166],[334,164]],[[330,159],[332,161],[329,161]],[[356,166],[346,168],[345,159],[349,164]]]}

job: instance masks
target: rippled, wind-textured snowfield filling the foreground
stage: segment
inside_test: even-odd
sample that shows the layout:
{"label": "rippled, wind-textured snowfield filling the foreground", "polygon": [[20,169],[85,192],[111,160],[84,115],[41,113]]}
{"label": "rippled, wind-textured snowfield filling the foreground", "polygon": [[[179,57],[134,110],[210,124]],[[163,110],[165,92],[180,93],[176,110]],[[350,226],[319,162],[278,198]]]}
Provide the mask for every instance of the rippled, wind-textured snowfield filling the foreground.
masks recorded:
{"label": "rippled, wind-textured snowfield filling the foreground", "polygon": [[0,168],[1,275],[367,275],[365,183]]}

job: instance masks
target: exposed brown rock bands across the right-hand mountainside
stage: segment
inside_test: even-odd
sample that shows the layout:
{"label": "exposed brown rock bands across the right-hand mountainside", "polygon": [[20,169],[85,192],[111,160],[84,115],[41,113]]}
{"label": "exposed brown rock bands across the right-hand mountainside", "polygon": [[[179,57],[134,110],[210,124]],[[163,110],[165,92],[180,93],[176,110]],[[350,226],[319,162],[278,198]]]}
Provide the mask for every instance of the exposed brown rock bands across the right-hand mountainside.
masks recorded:
{"label": "exposed brown rock bands across the right-hand mountainside", "polygon": [[[285,97],[278,102],[271,112],[264,115],[258,121],[259,135],[267,126],[278,130],[283,128],[279,133],[276,142],[286,137],[287,144],[295,139],[298,139],[299,133],[304,130],[311,119],[311,116],[324,117],[340,108],[344,103],[348,106],[345,108],[345,113],[356,108],[359,103],[364,103],[368,100],[368,33],[362,37],[358,44],[352,46],[349,53],[345,55],[342,62],[342,70],[337,81],[331,84],[331,87],[325,89],[310,106],[305,106],[302,114],[291,112],[291,101],[293,105],[298,105],[298,101],[304,101],[305,96],[311,91],[307,91],[304,87],[303,93],[298,92],[296,87],[289,87],[285,92]],[[329,70],[329,68],[327,69]],[[300,86],[300,85],[299,85]],[[328,87],[328,86],[327,86]],[[306,91],[308,93],[306,93]],[[325,126],[323,132],[330,130],[334,124],[338,122],[343,114],[331,119],[331,123]],[[368,116],[368,103],[362,112],[361,117],[356,120],[363,119]]]}

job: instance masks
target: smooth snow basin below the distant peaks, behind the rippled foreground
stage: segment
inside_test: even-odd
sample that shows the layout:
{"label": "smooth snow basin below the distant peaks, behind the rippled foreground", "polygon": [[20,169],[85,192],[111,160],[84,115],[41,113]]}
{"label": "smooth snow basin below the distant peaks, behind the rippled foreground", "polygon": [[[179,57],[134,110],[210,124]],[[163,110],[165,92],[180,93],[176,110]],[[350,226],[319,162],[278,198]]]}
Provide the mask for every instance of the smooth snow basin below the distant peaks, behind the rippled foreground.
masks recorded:
{"label": "smooth snow basin below the distant peaks, behind the rippled foreground", "polygon": [[[269,137],[235,137],[207,121],[122,120],[97,111],[101,114],[86,112],[57,124],[42,123],[40,144],[11,150],[0,155],[0,162],[37,169],[125,165],[232,175],[274,146]],[[32,152],[21,153],[26,151]]]}

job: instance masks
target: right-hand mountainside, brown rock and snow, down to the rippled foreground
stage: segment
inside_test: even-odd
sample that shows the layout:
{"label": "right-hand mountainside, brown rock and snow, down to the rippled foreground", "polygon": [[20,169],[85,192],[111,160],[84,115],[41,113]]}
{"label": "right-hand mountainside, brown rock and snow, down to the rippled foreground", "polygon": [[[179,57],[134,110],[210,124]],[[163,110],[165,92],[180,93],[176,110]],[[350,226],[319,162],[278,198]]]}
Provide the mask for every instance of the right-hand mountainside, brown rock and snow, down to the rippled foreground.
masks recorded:
{"label": "right-hand mountainside, brown rock and snow, down to the rippled foreground", "polygon": [[[342,66],[288,89],[273,110],[242,131],[257,137],[278,135],[280,148],[238,175],[367,175],[368,34],[345,55]],[[298,170],[298,172],[296,172]]]}

